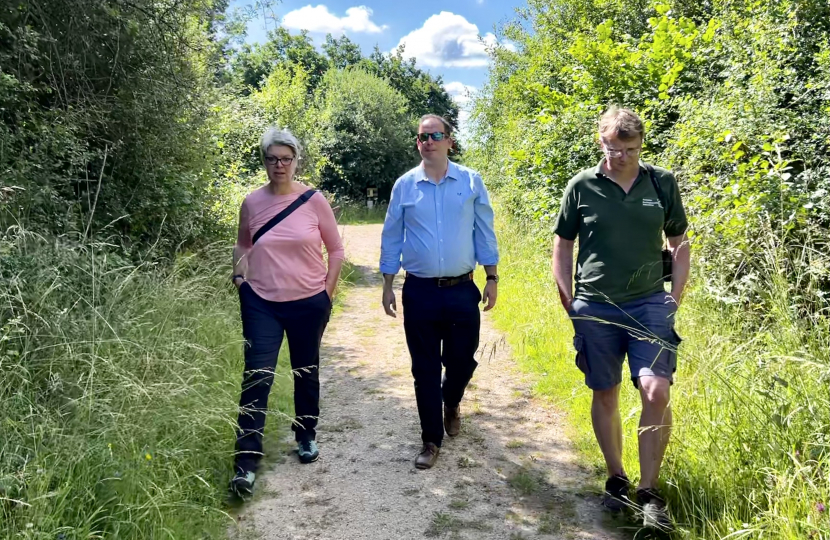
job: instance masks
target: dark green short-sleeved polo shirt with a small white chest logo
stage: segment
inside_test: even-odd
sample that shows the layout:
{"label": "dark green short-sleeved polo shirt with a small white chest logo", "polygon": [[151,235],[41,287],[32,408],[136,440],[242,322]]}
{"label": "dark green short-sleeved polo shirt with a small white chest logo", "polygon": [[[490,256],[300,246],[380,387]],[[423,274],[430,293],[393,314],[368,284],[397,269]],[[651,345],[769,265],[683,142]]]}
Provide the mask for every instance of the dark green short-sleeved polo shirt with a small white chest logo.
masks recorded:
{"label": "dark green short-sleeved polo shirt with a small white chest logo", "polygon": [[671,172],[654,167],[668,206],[664,215],[642,163],[626,194],[603,174],[603,162],[568,182],[555,232],[565,240],[579,238],[575,297],[619,304],[664,290],[662,233],[680,236],[688,224]]}

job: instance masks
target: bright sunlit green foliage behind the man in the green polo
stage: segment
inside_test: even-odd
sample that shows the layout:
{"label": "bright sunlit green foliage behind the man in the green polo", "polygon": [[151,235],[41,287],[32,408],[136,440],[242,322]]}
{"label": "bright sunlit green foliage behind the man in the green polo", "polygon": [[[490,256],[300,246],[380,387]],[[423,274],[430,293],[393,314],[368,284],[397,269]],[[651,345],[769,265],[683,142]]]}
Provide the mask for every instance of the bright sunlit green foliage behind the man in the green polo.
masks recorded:
{"label": "bright sunlit green foliage behind the man in the green polo", "polygon": [[[515,213],[550,222],[567,181],[599,160],[603,109],[636,109],[644,158],[679,175],[712,286],[746,298],[757,292],[746,261],[759,228],[818,253],[830,240],[830,7],[640,4],[532,1],[505,30],[519,52],[496,51],[476,105],[476,162],[504,179]],[[822,257],[813,266],[805,307],[818,309],[830,268]]]}

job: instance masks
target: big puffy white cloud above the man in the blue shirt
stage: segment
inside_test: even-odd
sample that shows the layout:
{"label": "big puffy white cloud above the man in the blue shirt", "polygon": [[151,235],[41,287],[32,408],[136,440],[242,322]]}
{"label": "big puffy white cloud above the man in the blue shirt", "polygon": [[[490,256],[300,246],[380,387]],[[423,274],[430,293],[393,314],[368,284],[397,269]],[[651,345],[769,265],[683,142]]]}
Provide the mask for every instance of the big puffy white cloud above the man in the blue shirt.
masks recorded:
{"label": "big puffy white cloud above the man in the blue shirt", "polygon": [[433,15],[424,25],[402,37],[404,57],[415,57],[422,66],[484,67],[487,48],[498,45],[491,32],[479,38],[478,26],[449,11]]}

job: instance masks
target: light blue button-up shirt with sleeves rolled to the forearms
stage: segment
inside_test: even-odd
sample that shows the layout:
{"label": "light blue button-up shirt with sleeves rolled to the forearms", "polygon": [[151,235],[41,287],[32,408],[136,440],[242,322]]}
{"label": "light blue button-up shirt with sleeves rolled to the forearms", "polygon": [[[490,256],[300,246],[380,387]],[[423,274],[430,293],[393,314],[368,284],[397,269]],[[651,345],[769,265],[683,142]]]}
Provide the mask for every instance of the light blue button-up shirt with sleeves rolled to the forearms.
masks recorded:
{"label": "light blue button-up shirt with sleeves rolled to the forearms", "polygon": [[423,165],[395,182],[380,246],[380,271],[418,277],[455,277],[476,262],[499,262],[493,207],[481,175],[449,162],[435,184]]}

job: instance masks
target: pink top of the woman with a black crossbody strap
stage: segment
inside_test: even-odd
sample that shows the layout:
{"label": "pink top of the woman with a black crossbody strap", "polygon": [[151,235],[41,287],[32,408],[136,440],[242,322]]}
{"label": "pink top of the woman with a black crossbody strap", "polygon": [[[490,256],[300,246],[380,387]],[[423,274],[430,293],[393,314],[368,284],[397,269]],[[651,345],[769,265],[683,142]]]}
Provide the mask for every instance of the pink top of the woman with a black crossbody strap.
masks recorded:
{"label": "pink top of the woman with a black crossbody strap", "polygon": [[302,193],[274,195],[266,184],[242,202],[237,244],[250,248],[245,280],[266,300],[289,302],[324,291],[328,269],[323,244],[330,261],[345,256],[334,212],[320,193],[252,243],[259,228]]}

